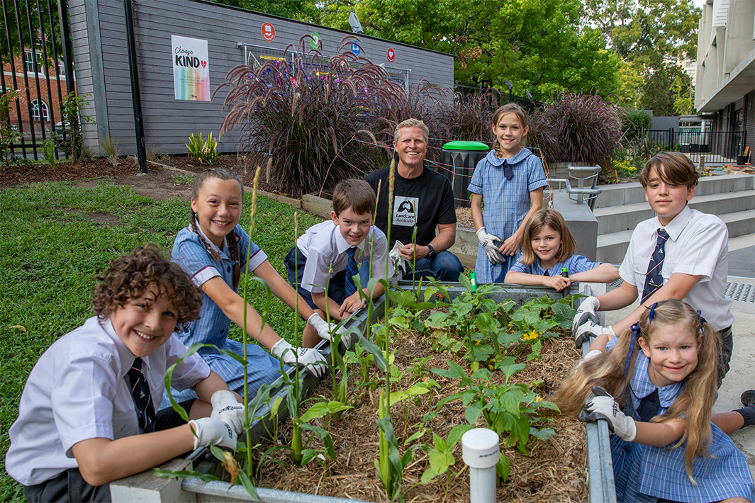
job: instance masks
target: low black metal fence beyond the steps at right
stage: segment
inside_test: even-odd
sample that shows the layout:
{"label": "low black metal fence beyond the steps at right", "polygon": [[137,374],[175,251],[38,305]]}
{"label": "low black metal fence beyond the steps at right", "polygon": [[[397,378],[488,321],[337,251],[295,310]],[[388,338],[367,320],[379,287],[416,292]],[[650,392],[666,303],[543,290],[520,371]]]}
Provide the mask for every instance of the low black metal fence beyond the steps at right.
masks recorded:
{"label": "low black metal fence beyond the steps at right", "polygon": [[744,164],[747,131],[707,131],[701,127],[627,130],[624,145],[652,152],[677,150],[705,164]]}

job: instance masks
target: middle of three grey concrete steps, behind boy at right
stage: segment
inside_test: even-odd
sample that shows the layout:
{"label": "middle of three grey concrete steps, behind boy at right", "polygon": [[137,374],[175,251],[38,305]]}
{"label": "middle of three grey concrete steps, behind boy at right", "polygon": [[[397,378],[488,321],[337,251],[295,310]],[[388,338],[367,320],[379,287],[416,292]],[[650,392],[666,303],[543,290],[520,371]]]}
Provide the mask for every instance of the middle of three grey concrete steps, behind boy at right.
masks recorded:
{"label": "middle of three grey concrete steps, behind boy at right", "polygon": [[[752,211],[755,209],[755,189],[710,195],[695,195],[692,201],[689,201],[689,207],[703,213],[713,213],[713,215],[718,215],[722,219],[726,213],[747,211],[755,216],[755,213]],[[598,235],[630,231],[639,222],[652,218],[655,215],[646,201],[625,204],[624,206],[596,208],[593,213],[598,221]]]}

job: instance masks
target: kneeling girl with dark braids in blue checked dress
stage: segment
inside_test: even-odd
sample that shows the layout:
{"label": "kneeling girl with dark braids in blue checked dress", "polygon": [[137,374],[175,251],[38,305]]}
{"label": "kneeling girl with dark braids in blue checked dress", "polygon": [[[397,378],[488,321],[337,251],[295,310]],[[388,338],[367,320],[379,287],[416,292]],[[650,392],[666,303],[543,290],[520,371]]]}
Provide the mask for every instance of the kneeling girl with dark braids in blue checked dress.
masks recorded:
{"label": "kneeling girl with dark braids in blue checked dress", "polygon": [[[199,319],[182,332],[177,332],[178,339],[184,345],[198,342],[211,344],[243,356],[244,346],[228,339],[228,330],[231,321],[239,327],[243,326],[246,307],[247,333],[259,343],[247,345],[249,394],[254,396],[261,385],[271,384],[280,376],[279,361],[264,348],[286,364],[298,363],[315,376],[322,376],[325,372],[325,358],[312,348],[293,348],[267,324],[260,330],[262,318],[237,293],[250,244],[249,235],[239,225],[243,200],[244,187],[236,174],[223,168],[211,168],[200,173],[192,189],[190,224],[178,233],[171,261],[177,262],[204,293]],[[266,281],[273,294],[290,308],[297,306],[298,297],[298,313],[307,319],[303,336],[305,341],[309,340],[314,345],[318,336],[325,339],[330,336],[330,324],[298,296],[254,243],[251,243],[248,270]],[[241,363],[220,354],[216,348],[201,348],[199,354],[232,391],[243,394],[244,367]],[[170,405],[167,393],[166,390],[162,406]],[[191,390],[173,393],[179,401],[192,397]]]}

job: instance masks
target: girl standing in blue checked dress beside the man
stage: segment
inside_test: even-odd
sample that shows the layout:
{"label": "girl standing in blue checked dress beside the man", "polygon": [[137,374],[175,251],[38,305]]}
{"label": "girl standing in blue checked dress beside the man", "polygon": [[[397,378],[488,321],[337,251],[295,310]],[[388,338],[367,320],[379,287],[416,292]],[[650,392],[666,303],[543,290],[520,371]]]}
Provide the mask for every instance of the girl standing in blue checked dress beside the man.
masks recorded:
{"label": "girl standing in blue checked dress beside the man", "polygon": [[524,225],[543,207],[543,164],[522,141],[529,132],[527,115],[514,103],[493,114],[495,140],[472,175],[472,221],[477,230],[475,271],[480,283],[503,283],[519,247]]}

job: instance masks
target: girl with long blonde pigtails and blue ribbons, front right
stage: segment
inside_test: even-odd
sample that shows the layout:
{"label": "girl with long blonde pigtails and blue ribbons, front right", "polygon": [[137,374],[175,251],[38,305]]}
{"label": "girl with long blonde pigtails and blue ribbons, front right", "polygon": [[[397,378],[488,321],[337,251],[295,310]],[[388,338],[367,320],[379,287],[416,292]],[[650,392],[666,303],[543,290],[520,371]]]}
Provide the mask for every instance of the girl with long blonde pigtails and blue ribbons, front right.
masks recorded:
{"label": "girl with long blonde pigtails and blue ribbons, front right", "polygon": [[649,306],[621,336],[596,337],[556,393],[563,413],[608,422],[618,501],[755,500],[747,460],[716,426],[738,413],[711,413],[719,338],[699,312]]}

